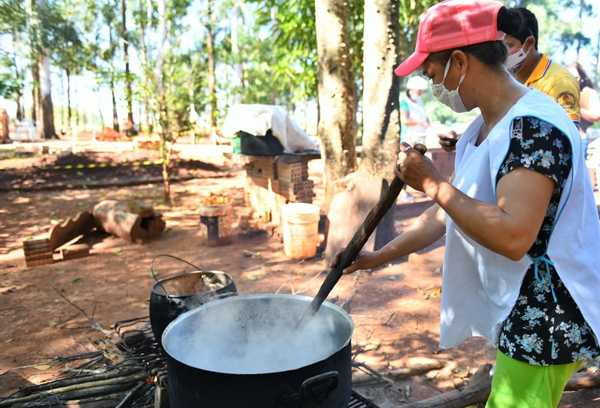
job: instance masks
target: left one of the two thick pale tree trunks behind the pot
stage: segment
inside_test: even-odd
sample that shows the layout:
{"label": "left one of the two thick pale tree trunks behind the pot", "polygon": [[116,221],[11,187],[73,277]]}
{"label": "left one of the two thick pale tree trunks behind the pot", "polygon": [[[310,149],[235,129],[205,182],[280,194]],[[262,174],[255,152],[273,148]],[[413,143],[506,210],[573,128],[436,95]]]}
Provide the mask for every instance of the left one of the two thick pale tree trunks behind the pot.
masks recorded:
{"label": "left one of the two thick pale tree trunks behind the pot", "polygon": [[315,0],[319,119],[325,161],[325,207],[336,180],[356,166],[356,87],[348,48],[346,0]]}

